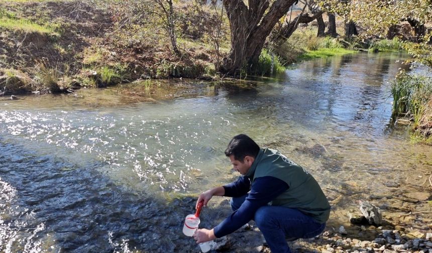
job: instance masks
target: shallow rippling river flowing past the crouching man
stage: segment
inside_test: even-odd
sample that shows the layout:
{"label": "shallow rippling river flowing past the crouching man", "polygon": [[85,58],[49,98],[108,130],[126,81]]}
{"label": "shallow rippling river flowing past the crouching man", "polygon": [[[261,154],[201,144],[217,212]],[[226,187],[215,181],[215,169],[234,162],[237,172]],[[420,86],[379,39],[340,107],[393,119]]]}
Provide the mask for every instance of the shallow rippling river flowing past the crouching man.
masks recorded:
{"label": "shallow rippling river flowing past the crouching man", "polygon": [[238,176],[224,150],[240,133],[306,168],[335,224],[357,200],[426,188],[432,147],[390,124],[405,58],[317,59],[240,91],[177,80],[193,88],[170,99],[137,84],[3,98],[0,252],[197,252],[181,234],[187,196]]}

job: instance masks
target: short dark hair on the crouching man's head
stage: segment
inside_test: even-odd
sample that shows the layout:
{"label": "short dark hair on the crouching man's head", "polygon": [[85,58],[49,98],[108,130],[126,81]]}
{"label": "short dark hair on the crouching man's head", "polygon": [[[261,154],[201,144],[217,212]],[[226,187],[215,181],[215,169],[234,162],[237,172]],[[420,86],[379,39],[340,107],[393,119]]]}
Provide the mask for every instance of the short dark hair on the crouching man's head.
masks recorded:
{"label": "short dark hair on the crouching man's head", "polygon": [[225,150],[227,157],[234,155],[234,159],[243,162],[246,156],[256,158],[260,152],[260,147],[247,135],[237,135],[233,137]]}

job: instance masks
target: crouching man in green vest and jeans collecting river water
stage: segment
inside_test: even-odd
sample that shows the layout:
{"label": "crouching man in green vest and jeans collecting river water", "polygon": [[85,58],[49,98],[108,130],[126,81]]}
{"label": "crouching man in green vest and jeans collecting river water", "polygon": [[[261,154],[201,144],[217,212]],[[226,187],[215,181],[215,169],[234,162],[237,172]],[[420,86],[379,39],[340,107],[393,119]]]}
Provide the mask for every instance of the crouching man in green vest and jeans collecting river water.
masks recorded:
{"label": "crouching man in green vest and jeans collecting river water", "polygon": [[330,204],[306,170],[276,150],[260,149],[246,135],[235,136],[225,155],[242,176],[201,193],[197,204],[228,196],[234,212],[211,230],[196,230],[197,243],[230,234],[253,219],[272,252],[282,253],[290,252],[287,238],[311,238],[324,230]]}

